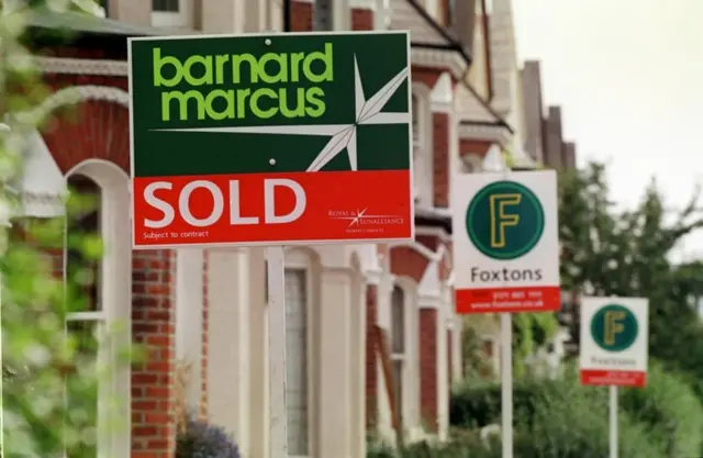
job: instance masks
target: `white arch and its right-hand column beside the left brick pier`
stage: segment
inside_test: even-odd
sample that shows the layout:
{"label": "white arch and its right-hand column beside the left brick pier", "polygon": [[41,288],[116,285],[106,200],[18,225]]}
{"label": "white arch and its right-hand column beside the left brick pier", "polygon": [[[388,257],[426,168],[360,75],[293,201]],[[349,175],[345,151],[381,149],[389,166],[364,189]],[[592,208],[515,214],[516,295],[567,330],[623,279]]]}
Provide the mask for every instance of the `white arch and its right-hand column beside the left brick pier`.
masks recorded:
{"label": "white arch and its right-hand column beside the left brick pier", "polygon": [[[99,410],[110,412],[121,421],[131,420],[131,371],[130,365],[119,360],[121,350],[132,343],[132,246],[130,233],[130,191],[129,177],[116,165],[103,159],[87,159],[65,176],[83,175],[93,180],[101,190],[100,227],[105,242],[105,250],[101,259],[101,291],[104,321],[109,332],[105,343],[105,357],[111,371],[107,386],[101,387],[101,402],[115,405],[108,410],[99,405]],[[64,256],[66,262],[66,256]],[[113,329],[113,327],[115,327]],[[100,414],[99,414],[100,416]],[[100,421],[100,420],[99,420]],[[131,427],[112,428],[102,437],[100,449],[109,456],[126,458],[130,456]],[[104,444],[104,445],[103,445]]]}

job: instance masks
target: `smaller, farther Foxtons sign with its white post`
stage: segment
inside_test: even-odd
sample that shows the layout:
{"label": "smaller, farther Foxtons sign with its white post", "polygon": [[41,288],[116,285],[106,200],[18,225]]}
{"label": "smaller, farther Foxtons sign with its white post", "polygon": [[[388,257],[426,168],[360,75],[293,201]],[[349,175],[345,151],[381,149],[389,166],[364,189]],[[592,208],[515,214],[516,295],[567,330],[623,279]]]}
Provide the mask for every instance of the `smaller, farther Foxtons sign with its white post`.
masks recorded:
{"label": "smaller, farther Foxtons sign with its white post", "polygon": [[647,383],[649,303],[581,299],[581,383],[610,387],[610,458],[617,458],[617,387]]}

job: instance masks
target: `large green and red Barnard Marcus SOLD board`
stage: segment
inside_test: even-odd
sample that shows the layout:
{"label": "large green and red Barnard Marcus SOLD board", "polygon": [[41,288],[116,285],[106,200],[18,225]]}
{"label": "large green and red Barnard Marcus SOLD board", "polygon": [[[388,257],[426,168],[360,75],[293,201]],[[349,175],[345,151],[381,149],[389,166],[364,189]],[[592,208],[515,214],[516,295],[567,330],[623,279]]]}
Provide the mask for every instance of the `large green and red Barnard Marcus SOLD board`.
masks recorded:
{"label": "large green and red Barnard Marcus SOLD board", "polygon": [[129,49],[135,247],[413,237],[406,33]]}

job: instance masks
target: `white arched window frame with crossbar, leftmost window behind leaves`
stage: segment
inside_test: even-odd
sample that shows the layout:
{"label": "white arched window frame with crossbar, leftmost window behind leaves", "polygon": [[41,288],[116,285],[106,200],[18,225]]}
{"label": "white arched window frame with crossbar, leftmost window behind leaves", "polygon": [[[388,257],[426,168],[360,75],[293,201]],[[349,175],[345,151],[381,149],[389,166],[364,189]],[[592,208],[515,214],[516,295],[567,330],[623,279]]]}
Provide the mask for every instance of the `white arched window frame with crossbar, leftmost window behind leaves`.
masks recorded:
{"label": "white arched window frame with crossbar, leftmost window behind leaves", "polygon": [[[96,312],[75,312],[66,317],[66,322],[98,322],[97,368],[110,369],[108,380],[102,380],[98,388],[98,457],[129,458],[131,455],[132,432],[132,395],[130,365],[120,359],[123,345],[132,344],[132,250],[129,230],[130,221],[122,215],[127,212],[129,177],[116,165],[102,159],[88,159],[66,174],[82,175],[96,182],[100,189],[100,235],[107,249],[100,259],[100,278],[98,294],[100,310]],[[67,281],[68,249],[66,222],[64,224],[63,278]],[[116,243],[115,243],[116,242]],[[110,245],[112,244],[112,245]],[[116,246],[115,246],[116,245]],[[124,309],[123,309],[124,308]],[[122,325],[124,331],[113,332],[114,324]],[[67,332],[67,326],[65,326]],[[105,377],[101,373],[101,377]],[[115,405],[116,403],[116,405]],[[119,417],[126,424],[114,429],[112,418]]]}

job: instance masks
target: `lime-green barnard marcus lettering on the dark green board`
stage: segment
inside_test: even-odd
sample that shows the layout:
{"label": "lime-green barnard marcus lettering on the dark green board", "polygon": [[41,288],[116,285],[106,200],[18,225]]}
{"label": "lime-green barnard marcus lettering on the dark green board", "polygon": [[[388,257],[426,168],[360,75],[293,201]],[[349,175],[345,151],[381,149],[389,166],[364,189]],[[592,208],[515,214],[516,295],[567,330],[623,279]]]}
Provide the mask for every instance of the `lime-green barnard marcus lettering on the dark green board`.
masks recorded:
{"label": "lime-green barnard marcus lettering on the dark green board", "polygon": [[311,53],[191,55],[182,62],[155,47],[153,63],[163,121],[320,118],[325,92],[310,83],[334,79],[332,43]]}

